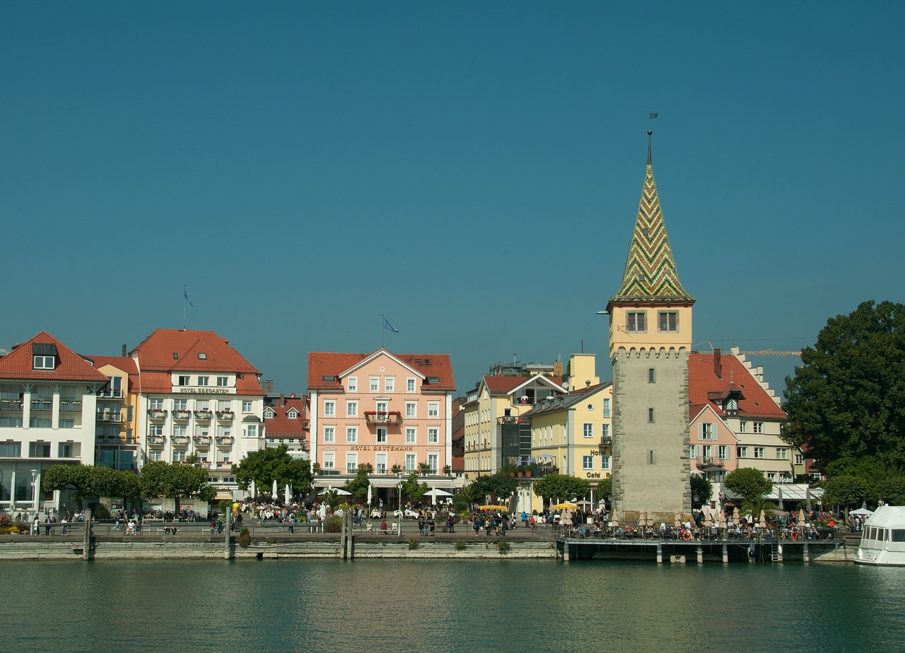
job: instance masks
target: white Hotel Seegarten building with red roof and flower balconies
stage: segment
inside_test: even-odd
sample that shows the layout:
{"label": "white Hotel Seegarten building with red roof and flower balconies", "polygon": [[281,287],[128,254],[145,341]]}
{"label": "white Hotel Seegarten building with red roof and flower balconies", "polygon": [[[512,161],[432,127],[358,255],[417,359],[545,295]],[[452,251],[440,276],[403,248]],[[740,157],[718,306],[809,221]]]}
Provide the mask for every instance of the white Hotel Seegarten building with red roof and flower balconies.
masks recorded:
{"label": "white Hotel Seegarten building with red roof and flower balconies", "polygon": [[130,355],[139,464],[194,462],[218,498],[240,498],[233,463],[263,448],[261,373],[213,331],[157,329]]}

